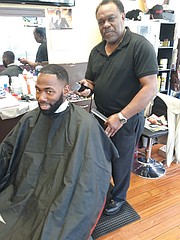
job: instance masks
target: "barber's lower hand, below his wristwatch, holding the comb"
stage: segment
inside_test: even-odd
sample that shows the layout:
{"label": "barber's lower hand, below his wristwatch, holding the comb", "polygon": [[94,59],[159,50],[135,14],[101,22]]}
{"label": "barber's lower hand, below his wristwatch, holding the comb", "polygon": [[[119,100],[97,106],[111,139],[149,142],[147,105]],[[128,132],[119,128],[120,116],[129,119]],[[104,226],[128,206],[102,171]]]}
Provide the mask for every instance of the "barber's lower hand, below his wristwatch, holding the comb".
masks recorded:
{"label": "barber's lower hand, below his wristwatch, holding the comb", "polygon": [[119,116],[117,113],[108,117],[105,125],[107,126],[105,129],[105,133],[108,137],[113,137],[116,132],[123,126],[123,124],[119,121]]}

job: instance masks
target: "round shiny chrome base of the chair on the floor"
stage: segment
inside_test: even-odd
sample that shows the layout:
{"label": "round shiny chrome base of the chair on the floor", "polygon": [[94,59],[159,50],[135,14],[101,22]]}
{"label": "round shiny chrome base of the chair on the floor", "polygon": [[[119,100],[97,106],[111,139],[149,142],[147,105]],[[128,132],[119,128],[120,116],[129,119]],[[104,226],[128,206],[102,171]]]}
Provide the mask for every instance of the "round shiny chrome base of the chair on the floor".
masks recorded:
{"label": "round shiny chrome base of the chair on the floor", "polygon": [[152,158],[148,161],[145,158],[135,158],[132,172],[143,178],[154,179],[164,176],[166,170],[161,162]]}

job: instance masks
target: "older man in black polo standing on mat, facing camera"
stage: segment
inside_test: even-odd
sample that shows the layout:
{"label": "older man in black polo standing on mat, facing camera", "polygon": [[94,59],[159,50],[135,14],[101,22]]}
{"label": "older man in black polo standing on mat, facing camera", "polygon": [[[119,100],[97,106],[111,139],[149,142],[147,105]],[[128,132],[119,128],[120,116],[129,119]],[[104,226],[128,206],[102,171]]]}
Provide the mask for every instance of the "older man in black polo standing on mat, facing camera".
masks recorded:
{"label": "older man in black polo standing on mat, facing camera", "polygon": [[[101,125],[119,151],[112,162],[112,199],[104,209],[112,215],[126,201],[135,146],[144,128],[143,110],[157,93],[158,65],[151,43],[125,27],[121,1],[103,0],[96,18],[103,40],[92,49],[80,82],[94,92],[97,109],[108,117]],[[89,90],[81,94],[89,95]]]}

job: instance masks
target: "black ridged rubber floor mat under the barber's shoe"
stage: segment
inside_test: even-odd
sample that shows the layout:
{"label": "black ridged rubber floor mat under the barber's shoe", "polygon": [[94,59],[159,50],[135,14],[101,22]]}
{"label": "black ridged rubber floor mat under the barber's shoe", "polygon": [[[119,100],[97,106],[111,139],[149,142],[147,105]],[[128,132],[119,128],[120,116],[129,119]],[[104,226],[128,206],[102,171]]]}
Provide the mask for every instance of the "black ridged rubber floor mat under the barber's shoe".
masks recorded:
{"label": "black ridged rubber floor mat under the barber's shoe", "polygon": [[95,240],[139,219],[140,216],[138,213],[128,202],[125,202],[122,209],[115,215],[106,216],[102,214],[96,228],[93,231],[92,237]]}

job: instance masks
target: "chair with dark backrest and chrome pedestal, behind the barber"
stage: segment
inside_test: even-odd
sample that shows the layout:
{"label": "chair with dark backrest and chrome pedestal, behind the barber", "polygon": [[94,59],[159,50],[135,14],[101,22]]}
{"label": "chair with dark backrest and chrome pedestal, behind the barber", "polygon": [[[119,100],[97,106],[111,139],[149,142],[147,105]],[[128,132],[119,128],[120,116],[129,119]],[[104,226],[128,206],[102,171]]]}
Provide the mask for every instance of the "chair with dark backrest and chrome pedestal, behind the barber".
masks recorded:
{"label": "chair with dark backrest and chrome pedestal, behind the barber", "polygon": [[[156,114],[157,116],[165,115],[167,119],[167,106],[159,97],[154,99],[152,113]],[[166,170],[163,164],[151,157],[151,151],[153,140],[162,136],[166,136],[167,134],[168,130],[152,132],[144,128],[142,137],[147,138],[147,147],[145,149],[145,154],[138,152],[138,156],[134,159],[132,172],[140,177],[149,179],[159,178],[165,174]]]}

